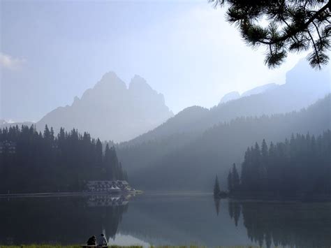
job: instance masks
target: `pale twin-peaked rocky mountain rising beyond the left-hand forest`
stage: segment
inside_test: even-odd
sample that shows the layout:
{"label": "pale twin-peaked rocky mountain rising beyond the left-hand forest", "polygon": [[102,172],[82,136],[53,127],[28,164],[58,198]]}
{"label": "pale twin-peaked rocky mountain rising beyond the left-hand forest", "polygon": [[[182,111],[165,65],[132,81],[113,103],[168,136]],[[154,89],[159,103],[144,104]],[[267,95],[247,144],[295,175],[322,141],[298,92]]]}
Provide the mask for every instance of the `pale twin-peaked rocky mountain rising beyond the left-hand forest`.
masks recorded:
{"label": "pale twin-peaked rocky mountain rising beyond the left-hand forest", "polygon": [[72,105],[48,113],[36,127],[43,130],[47,124],[55,131],[60,127],[75,128],[101,140],[120,142],[154,129],[172,115],[163,95],[143,78],[135,75],[127,88],[110,72],[93,89],[87,89],[81,99],[76,96]]}

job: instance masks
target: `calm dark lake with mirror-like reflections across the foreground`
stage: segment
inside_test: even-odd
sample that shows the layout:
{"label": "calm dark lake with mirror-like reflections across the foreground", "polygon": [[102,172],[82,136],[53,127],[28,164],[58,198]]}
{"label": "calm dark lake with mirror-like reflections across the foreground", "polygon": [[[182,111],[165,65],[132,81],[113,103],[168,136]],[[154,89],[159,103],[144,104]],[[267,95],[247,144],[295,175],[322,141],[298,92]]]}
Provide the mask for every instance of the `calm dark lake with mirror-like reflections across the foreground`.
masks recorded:
{"label": "calm dark lake with mirror-like reflections across the foreground", "polygon": [[0,198],[0,244],[331,247],[331,203],[214,201],[210,194]]}

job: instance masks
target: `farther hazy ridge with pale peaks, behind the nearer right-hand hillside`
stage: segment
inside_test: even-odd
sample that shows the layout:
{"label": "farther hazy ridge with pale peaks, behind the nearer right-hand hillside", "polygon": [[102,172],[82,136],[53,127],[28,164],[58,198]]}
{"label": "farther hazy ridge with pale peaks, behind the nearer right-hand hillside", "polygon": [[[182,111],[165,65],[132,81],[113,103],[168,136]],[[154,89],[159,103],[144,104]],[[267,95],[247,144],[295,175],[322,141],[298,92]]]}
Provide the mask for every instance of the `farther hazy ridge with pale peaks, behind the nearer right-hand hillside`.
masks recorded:
{"label": "farther hazy ridge with pale peaks, behind the nearer right-hand hillside", "polygon": [[221,122],[230,122],[237,117],[260,117],[307,108],[330,93],[329,72],[328,69],[312,71],[306,62],[301,61],[286,74],[284,85],[272,85],[260,94],[253,94],[260,91],[249,91],[251,93],[242,94],[240,99],[221,103],[211,109],[198,106],[186,108],[156,129],[120,143],[117,146],[119,158],[128,172],[133,174],[189,145],[200,138],[204,131]]}

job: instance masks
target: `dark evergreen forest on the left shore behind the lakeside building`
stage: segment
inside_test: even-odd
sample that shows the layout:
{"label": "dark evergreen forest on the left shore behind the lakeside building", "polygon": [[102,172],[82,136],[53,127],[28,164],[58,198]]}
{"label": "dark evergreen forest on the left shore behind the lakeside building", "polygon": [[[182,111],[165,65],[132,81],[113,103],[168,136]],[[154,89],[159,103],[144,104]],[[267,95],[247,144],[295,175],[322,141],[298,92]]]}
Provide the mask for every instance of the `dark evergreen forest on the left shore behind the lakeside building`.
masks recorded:
{"label": "dark evergreen forest on the left shore behind the lakeside building", "polygon": [[0,129],[0,192],[80,191],[87,180],[127,180],[115,147],[89,133],[45,126]]}

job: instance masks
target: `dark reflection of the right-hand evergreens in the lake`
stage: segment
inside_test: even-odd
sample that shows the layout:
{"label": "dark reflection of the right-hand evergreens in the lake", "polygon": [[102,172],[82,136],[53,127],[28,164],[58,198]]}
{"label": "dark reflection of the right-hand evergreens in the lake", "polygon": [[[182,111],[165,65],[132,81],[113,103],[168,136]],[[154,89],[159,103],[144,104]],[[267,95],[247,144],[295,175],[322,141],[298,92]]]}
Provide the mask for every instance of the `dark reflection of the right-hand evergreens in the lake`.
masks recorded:
{"label": "dark reflection of the right-hand evergreens in the lake", "polygon": [[331,204],[228,201],[237,226],[242,213],[247,236],[261,247],[330,247]]}

